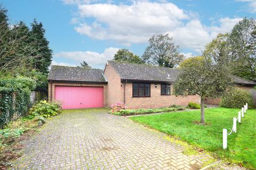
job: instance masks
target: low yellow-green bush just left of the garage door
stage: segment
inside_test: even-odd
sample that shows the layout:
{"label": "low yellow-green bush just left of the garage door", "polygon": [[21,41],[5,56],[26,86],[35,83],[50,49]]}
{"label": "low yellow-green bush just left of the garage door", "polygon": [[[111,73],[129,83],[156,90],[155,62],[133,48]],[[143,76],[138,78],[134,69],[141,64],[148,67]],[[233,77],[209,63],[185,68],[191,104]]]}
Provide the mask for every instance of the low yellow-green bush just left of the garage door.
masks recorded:
{"label": "low yellow-green bush just left of the garage door", "polygon": [[43,117],[52,117],[60,113],[61,106],[59,103],[51,102],[49,103],[46,100],[41,100],[39,103],[34,105],[30,109],[30,115],[32,116],[43,116]]}

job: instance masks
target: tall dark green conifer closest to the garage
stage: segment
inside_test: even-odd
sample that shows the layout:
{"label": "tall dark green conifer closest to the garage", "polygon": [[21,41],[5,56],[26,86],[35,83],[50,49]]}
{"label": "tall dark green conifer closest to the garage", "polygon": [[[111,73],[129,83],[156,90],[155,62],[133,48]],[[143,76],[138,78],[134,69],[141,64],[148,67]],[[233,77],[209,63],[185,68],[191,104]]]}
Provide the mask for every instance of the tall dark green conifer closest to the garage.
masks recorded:
{"label": "tall dark green conifer closest to the garage", "polygon": [[33,67],[42,73],[47,73],[52,62],[52,50],[49,47],[49,41],[45,38],[45,29],[42,22],[38,23],[36,19],[31,23],[31,27],[30,42],[35,43],[35,48],[39,47],[39,50],[32,54],[37,56],[34,58]]}

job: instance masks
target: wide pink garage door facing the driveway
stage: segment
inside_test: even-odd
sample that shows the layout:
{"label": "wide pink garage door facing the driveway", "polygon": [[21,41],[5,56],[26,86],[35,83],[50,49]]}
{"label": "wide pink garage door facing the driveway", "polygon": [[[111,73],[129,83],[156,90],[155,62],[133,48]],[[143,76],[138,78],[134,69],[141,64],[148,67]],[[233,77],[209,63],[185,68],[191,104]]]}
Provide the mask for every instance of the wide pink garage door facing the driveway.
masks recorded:
{"label": "wide pink garage door facing the driveway", "polygon": [[103,107],[103,87],[55,86],[63,109]]}

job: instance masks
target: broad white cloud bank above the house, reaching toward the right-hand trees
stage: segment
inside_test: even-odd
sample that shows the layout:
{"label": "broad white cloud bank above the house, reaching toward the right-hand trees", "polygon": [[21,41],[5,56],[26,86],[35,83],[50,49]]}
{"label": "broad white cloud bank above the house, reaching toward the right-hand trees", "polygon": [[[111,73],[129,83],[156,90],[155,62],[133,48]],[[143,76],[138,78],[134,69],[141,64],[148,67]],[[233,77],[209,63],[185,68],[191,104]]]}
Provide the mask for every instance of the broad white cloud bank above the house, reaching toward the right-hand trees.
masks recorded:
{"label": "broad white cloud bank above the house, reaching toward the right-hand trees", "polygon": [[[115,40],[129,46],[147,43],[155,33],[169,33],[181,48],[194,52],[201,52],[218,33],[230,31],[240,20],[221,18],[214,25],[204,25],[198,14],[182,10],[173,3],[134,1],[130,5],[94,3],[77,6],[81,20],[75,30],[81,35]],[[87,18],[93,18],[94,22],[84,22]]]}

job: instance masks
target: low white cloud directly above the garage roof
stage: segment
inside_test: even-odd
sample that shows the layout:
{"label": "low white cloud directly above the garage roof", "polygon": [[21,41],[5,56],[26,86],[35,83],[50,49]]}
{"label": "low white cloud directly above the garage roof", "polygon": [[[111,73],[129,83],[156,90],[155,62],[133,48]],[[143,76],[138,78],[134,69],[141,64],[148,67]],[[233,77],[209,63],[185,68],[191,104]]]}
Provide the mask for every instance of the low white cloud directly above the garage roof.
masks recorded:
{"label": "low white cloud directly above the garage roof", "polygon": [[78,65],[82,61],[86,61],[92,67],[102,69],[102,66],[106,64],[107,60],[113,59],[117,51],[118,51],[118,48],[109,47],[109,48],[106,48],[103,53],[90,52],[90,51],[59,52],[54,54],[54,57],[66,58],[68,60],[77,62]]}

